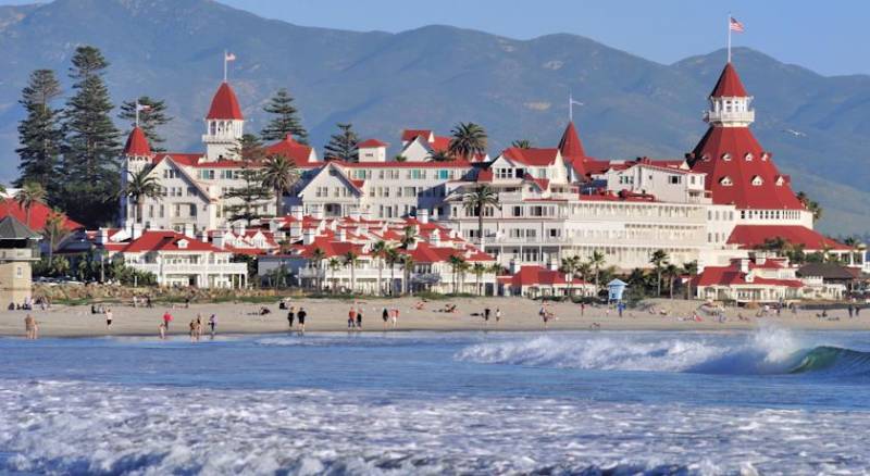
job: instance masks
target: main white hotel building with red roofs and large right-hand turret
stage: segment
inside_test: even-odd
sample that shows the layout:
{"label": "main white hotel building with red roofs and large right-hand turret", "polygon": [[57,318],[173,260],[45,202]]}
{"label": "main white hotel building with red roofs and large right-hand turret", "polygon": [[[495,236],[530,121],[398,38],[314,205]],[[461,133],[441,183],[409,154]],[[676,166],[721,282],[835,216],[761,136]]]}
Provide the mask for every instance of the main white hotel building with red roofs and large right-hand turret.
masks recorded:
{"label": "main white hotel building with red roofs and large right-hand turret", "polygon": [[[274,200],[254,205],[265,215],[295,208],[318,218],[425,216],[481,245],[506,267],[552,266],[598,251],[607,265],[631,270],[648,267],[659,249],[675,264],[723,266],[746,258],[763,237],[776,236],[808,252],[848,252],[812,230],[812,215],[795,198],[791,178],[753,137],[751,97],[732,64],[709,101],[709,130],[681,160],[591,158],[573,123],[554,148],[509,148],[493,159],[448,162],[432,160],[449,138],[431,130],[406,130],[400,161],[389,159],[388,145],[376,139],[360,142],[357,162],[323,161],[288,136],[269,152],[293,159],[301,178],[285,197],[285,210],[274,210]],[[223,83],[206,116],[204,152],[156,153],[134,129],[124,176],[151,167],[163,191],[158,200],[142,200],[140,225],[178,231],[192,226],[194,233],[229,227],[226,209],[233,203],[224,193],[244,183],[243,163],[232,154],[244,126],[238,100]],[[498,192],[500,206],[484,211],[478,237],[477,216],[462,197],[484,185]],[[132,222],[130,203],[122,202],[121,216],[122,225]]]}

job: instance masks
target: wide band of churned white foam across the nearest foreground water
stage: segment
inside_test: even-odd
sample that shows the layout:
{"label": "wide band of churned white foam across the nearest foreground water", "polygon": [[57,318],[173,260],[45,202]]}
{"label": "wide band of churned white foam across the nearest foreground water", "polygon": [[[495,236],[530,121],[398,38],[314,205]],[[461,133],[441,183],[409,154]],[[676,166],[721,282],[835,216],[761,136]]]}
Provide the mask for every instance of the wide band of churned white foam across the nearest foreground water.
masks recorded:
{"label": "wide band of churned white foam across the nearest foreground water", "polygon": [[860,473],[870,455],[854,436],[869,424],[866,412],[0,380],[0,473]]}

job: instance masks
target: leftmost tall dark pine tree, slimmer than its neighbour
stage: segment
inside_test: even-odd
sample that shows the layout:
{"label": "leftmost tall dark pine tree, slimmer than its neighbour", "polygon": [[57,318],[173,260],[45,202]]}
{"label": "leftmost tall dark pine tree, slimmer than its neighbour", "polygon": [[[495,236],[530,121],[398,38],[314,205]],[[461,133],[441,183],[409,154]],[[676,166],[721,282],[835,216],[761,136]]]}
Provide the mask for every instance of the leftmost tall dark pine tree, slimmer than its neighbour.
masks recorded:
{"label": "leftmost tall dark pine tree, slimmer than its neighbour", "polygon": [[63,128],[60,109],[51,102],[61,95],[61,84],[51,70],[36,70],[30,73],[27,87],[22,90],[18,101],[27,116],[18,123],[18,142],[15,152],[21,158],[21,177],[15,186],[36,183],[54,199],[60,188],[58,164],[63,147]]}

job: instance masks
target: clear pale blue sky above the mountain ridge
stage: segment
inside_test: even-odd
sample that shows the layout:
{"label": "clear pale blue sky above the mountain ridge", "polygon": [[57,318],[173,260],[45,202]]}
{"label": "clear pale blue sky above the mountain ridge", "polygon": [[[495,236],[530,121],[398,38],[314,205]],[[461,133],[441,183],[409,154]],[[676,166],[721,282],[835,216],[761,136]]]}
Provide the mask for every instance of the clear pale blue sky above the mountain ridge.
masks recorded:
{"label": "clear pale blue sky above the mountain ridge", "polygon": [[270,18],[341,29],[400,32],[444,24],[513,38],[572,33],[662,63],[723,48],[730,11],[746,26],[734,36],[735,46],[825,75],[870,74],[866,0],[219,1]]}

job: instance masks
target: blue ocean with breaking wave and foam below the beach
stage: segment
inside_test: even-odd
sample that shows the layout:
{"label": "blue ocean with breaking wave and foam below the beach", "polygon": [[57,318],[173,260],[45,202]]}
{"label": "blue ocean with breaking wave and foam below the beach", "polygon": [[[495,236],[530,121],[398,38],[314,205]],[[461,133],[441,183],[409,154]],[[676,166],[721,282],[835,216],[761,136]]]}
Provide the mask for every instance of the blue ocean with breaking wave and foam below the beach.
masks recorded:
{"label": "blue ocean with breaking wave and foam below the beach", "polygon": [[0,339],[0,473],[867,474],[870,333]]}

